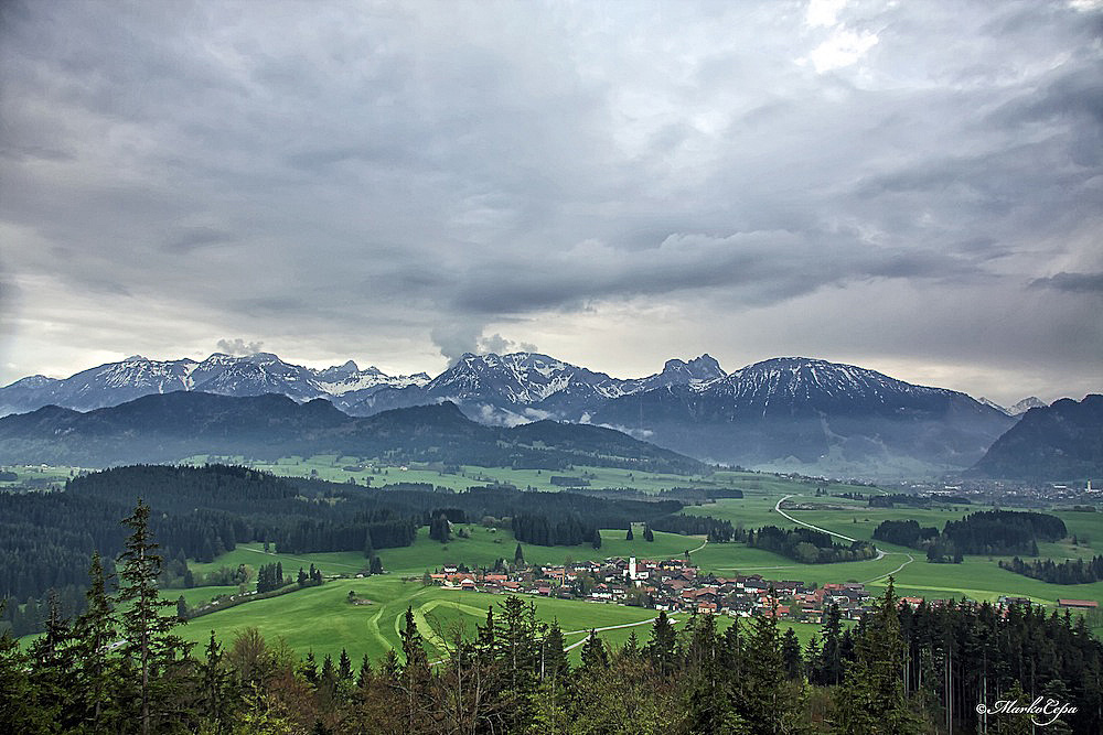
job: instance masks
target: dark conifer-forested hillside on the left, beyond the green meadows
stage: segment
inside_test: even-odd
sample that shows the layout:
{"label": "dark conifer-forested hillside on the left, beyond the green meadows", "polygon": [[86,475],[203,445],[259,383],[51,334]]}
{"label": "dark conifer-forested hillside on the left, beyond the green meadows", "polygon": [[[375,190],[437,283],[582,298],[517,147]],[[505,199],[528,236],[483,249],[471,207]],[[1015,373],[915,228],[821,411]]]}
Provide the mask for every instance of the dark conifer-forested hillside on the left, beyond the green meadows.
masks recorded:
{"label": "dark conifer-forested hillside on the left, beyond the green meadows", "polygon": [[[272,475],[226,465],[135,465],[93,473],[58,493],[0,493],[0,598],[42,609],[54,590],[67,614],[83,604],[88,558],[110,560],[122,548],[118,521],[142,498],[154,510],[165,581],[188,584],[185,559],[210,562],[248,541],[281,552],[363,552],[413,543],[416,529],[447,511],[457,522],[516,518],[520,540],[543,545],[590,543],[599,528],[653,521],[684,506],[574,493],[474,487],[453,493],[426,484],[365,488]],[[8,615],[11,616],[13,609]],[[29,614],[41,623],[36,614]]]}

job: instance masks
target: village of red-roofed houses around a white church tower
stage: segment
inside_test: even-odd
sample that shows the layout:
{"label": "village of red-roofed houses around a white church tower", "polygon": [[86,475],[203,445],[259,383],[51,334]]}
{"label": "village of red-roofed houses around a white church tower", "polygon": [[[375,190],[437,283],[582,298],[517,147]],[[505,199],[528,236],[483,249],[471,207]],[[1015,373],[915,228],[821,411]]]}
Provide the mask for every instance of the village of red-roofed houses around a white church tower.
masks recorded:
{"label": "village of red-roofed houses around a white church tower", "polygon": [[[817,586],[765,580],[759,574],[716,576],[700,573],[683,559],[613,558],[507,572],[469,572],[445,566],[430,573],[429,580],[443,587],[472,592],[522,593],[732,617],[777,614],[780,618],[805,623],[821,623],[832,603],[849,619],[861,617],[871,606],[869,593],[859,583]],[[913,604],[919,602],[915,599]]]}

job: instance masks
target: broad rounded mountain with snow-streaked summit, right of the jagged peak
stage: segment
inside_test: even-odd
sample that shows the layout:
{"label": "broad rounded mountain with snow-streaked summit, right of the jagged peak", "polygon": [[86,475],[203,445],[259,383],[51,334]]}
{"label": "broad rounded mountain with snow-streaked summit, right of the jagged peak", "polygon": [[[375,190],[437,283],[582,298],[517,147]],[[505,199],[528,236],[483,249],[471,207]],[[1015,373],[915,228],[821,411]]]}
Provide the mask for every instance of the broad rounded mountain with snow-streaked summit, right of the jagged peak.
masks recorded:
{"label": "broad rounded mountain with snow-streaked summit, right of the jagged peak", "polygon": [[855,475],[965,467],[1015,422],[964,393],[803,357],[620,397],[592,421],[706,460]]}

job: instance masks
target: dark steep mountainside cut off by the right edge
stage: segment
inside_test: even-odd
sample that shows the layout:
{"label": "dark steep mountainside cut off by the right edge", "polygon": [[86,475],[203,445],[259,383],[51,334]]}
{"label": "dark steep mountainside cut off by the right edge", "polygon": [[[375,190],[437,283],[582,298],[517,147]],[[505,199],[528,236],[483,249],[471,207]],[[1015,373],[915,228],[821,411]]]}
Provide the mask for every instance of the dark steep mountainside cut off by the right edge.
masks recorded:
{"label": "dark steep mountainside cut off by the right edge", "polygon": [[997,439],[972,475],[1000,479],[1103,478],[1103,396],[1031,408]]}

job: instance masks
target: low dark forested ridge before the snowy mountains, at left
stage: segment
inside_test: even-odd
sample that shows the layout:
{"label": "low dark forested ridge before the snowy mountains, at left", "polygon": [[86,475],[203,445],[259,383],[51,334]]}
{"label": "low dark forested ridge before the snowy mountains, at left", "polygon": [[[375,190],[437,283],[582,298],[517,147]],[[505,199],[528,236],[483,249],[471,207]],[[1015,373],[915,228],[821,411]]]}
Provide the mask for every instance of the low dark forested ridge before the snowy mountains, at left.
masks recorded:
{"label": "low dark forested ridge before the snowy mountains, at left", "polygon": [[702,469],[695,460],[610,429],[553,421],[486,426],[448,402],[354,418],[322,399],[297,403],[272,393],[237,398],[182,390],[86,413],[49,406],[0,419],[0,464],[106,466],[195,454],[329,453],[492,466]]}

